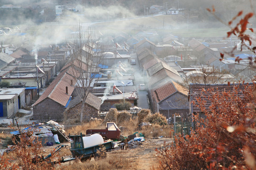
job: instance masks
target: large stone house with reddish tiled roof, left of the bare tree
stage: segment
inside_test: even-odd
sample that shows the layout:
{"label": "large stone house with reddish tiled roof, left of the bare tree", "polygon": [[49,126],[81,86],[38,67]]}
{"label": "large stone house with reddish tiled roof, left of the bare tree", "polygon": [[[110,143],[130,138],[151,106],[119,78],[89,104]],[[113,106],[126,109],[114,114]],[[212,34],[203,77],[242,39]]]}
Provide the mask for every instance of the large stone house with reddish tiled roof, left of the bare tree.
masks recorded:
{"label": "large stone house with reddish tiled roof, left of the bare tree", "polygon": [[[75,79],[66,73],[69,68],[60,72],[46,91],[32,105],[34,120],[63,120],[64,110],[73,93]],[[47,106],[47,107],[46,107]]]}

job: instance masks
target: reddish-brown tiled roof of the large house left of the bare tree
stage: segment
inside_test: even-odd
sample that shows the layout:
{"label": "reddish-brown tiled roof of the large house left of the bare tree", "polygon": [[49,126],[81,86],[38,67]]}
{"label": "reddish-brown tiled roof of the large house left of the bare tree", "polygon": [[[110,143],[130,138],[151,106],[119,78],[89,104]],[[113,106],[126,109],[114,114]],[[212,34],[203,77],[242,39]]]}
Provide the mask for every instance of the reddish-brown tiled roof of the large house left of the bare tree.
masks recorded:
{"label": "reddish-brown tiled roof of the large house left of the bare tree", "polygon": [[[46,88],[46,91],[39,97],[37,102],[33,104],[33,106],[42,102],[46,98],[50,98],[55,102],[60,103],[65,106],[68,102],[71,94],[74,90],[75,79],[65,72],[62,71],[54,81]],[[72,80],[72,81],[71,81]],[[71,82],[73,85],[71,85]],[[66,86],[68,87],[68,93],[66,93]]]}

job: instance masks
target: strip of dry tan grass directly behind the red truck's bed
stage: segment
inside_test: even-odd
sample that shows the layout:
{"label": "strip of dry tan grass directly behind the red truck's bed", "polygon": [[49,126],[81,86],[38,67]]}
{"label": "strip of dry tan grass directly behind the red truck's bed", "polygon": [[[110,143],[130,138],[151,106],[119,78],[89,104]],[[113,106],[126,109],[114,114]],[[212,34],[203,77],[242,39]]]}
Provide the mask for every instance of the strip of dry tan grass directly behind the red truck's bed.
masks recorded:
{"label": "strip of dry tan grass directly behind the red truck's bed", "polygon": [[67,128],[66,134],[86,134],[87,129],[105,129],[106,125],[102,124],[101,121],[90,121],[89,123],[84,123],[82,125],[77,125],[75,127]]}

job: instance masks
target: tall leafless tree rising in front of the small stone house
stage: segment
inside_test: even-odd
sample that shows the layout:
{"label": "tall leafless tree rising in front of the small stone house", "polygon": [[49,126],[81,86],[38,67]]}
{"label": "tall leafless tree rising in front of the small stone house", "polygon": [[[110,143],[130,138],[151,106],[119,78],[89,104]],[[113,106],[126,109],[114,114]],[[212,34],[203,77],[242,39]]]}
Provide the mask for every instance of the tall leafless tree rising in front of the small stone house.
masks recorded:
{"label": "tall leafless tree rising in front of the small stone house", "polygon": [[[98,41],[95,32],[90,29],[83,30],[79,24],[76,37],[73,37],[74,52],[71,55],[68,71],[76,80],[77,95],[81,98],[80,122],[83,121],[84,103],[91,91],[93,82],[99,78],[100,64],[103,62],[103,47]],[[70,43],[71,44],[71,43]],[[88,118],[86,118],[88,119]],[[89,118],[90,119],[90,118]]]}

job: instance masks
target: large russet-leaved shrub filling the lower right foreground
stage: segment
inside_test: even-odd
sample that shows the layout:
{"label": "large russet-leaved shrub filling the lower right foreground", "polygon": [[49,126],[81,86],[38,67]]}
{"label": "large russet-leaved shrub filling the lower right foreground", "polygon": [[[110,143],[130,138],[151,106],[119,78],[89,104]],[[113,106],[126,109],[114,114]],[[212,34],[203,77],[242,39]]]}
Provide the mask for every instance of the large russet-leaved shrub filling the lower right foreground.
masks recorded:
{"label": "large russet-leaved shrub filling the lower right foreground", "polygon": [[[246,86],[242,97],[232,92],[211,93],[206,119],[195,116],[197,128],[190,136],[157,150],[162,170],[256,169],[256,85]],[[201,110],[204,101],[198,98]]]}

